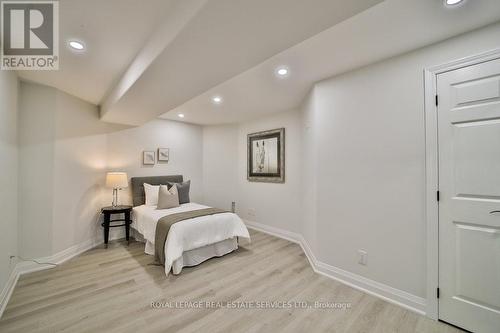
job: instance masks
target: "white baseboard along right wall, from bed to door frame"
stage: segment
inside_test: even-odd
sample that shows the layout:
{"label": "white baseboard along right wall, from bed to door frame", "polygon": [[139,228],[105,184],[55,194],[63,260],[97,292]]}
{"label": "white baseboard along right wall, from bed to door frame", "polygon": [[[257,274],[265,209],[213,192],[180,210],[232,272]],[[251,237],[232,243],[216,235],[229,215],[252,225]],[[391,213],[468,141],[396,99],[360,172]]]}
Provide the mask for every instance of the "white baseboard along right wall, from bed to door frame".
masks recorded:
{"label": "white baseboard along right wall, from bed to door frame", "polygon": [[368,279],[364,276],[351,273],[341,268],[328,265],[316,259],[309,244],[301,234],[282,230],[280,228],[270,227],[265,224],[246,221],[245,224],[250,229],[261,231],[269,235],[283,238],[291,242],[297,243],[304,251],[313,270],[330,279],[342,282],[350,287],[361,290],[367,294],[381,298],[387,302],[399,305],[413,312],[425,315],[426,300],[425,298],[415,296],[406,291],[393,288],[383,283]]}

